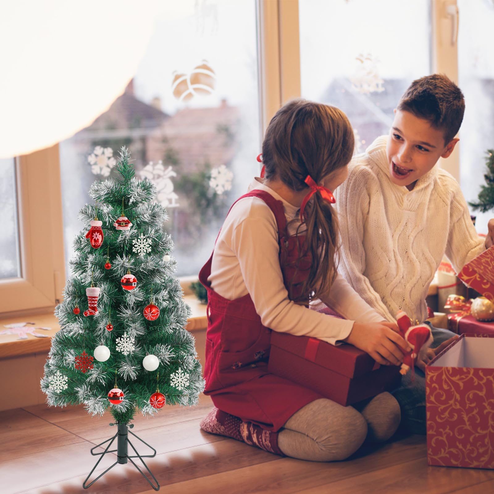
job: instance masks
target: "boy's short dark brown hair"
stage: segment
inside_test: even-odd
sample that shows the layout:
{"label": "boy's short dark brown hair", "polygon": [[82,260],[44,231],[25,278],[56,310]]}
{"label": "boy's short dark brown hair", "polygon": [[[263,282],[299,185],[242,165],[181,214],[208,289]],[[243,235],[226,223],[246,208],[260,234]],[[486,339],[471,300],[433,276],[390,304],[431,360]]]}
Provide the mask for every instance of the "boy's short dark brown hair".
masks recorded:
{"label": "boy's short dark brown hair", "polygon": [[453,81],[444,74],[432,74],[413,81],[397,109],[428,120],[433,127],[444,132],[444,141],[448,144],[460,128],[465,100]]}

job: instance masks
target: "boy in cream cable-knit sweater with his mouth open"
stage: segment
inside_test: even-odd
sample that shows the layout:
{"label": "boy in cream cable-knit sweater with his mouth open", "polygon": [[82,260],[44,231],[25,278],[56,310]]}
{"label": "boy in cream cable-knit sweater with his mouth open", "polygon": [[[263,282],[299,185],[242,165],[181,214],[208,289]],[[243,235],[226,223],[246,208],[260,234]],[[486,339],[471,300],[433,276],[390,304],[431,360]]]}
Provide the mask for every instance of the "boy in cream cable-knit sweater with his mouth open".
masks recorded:
{"label": "boy in cream cable-knit sweater with his mouth open", "polygon": [[[458,142],[454,136],[464,109],[462,92],[446,76],[413,81],[398,103],[389,135],[352,160],[337,191],[339,271],[388,321],[400,309],[412,321],[424,321],[427,290],[444,254],[459,272],[492,245],[494,220],[484,242],[458,183],[436,166]],[[433,346],[453,336],[444,329],[432,331]],[[433,356],[430,351],[419,367]],[[410,374],[394,394],[404,422],[424,433],[424,374],[417,371],[413,383]]]}

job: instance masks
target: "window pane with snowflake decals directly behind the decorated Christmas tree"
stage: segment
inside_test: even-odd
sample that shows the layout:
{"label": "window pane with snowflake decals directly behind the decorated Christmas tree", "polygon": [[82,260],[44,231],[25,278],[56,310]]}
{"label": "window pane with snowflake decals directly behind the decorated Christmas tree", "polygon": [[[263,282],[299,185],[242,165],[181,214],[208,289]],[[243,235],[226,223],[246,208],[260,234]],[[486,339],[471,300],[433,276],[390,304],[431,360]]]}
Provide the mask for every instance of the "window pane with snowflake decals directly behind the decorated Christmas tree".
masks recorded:
{"label": "window pane with snowflake decals directly behind the decorated Christmas tree", "polygon": [[67,260],[90,184],[113,176],[126,146],[136,176],[155,183],[167,209],[177,275],[197,276],[228,208],[258,172],[256,20],[251,0],[201,1],[192,16],[158,17],[124,94],[60,144]]}

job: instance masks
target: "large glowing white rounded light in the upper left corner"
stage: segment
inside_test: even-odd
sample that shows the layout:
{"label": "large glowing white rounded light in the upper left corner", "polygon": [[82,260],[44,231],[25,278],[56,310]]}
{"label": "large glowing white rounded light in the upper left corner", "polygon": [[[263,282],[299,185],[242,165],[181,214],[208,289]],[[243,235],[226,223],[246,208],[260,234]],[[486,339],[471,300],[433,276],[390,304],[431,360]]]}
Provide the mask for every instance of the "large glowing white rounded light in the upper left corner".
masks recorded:
{"label": "large glowing white rounded light in the upper left corner", "polygon": [[193,0],[3,2],[0,158],[51,146],[90,125],[134,76],[156,16],[193,13]]}

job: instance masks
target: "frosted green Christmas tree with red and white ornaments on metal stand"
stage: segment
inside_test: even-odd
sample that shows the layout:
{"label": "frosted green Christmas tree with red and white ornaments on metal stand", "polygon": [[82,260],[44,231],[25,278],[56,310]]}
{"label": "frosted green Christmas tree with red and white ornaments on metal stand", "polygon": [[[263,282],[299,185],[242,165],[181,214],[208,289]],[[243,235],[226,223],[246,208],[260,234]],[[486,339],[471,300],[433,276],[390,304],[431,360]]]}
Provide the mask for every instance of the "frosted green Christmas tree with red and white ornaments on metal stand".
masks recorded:
{"label": "frosted green Christmas tree with red and white ornaments on metal stand", "polygon": [[[162,228],[166,212],[150,202],[155,187],[147,178],[134,178],[129,158],[122,148],[118,178],[96,181],[89,191],[96,204],[80,211],[85,228],[75,239],[70,261],[74,275],[55,309],[61,329],[52,338],[41,379],[49,405],[84,404],[92,415],[109,409],[118,432],[102,443],[110,441],[104,453],[91,454],[101,455],[101,460],[118,436],[118,450],[112,450],[117,451],[115,464],[127,459],[134,463],[135,457],[142,461],[128,440],[128,434],[135,436],[128,427],[136,412],[153,414],[165,403],[195,405],[204,389],[194,337],[185,329],[190,309],[173,276],[175,262],[167,257],[172,241]],[[95,227],[101,236],[97,248],[85,238],[88,228]],[[78,303],[83,314],[75,310]],[[156,403],[157,388],[163,395],[161,406]],[[127,444],[137,456],[128,455]],[[84,488],[99,478],[85,485],[90,475]]]}

